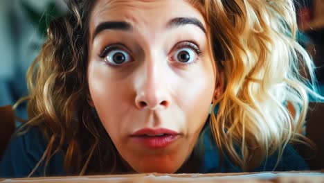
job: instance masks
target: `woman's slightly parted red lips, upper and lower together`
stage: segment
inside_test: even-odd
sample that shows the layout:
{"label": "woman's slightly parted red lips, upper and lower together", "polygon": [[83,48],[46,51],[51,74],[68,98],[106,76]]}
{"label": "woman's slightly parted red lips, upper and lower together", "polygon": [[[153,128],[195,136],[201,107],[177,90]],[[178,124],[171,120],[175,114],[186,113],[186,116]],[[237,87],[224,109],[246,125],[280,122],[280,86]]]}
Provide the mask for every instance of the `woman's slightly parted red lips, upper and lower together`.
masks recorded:
{"label": "woman's slightly parted red lips, upper and lower together", "polygon": [[179,138],[179,133],[165,128],[143,128],[130,136],[147,148],[165,148]]}

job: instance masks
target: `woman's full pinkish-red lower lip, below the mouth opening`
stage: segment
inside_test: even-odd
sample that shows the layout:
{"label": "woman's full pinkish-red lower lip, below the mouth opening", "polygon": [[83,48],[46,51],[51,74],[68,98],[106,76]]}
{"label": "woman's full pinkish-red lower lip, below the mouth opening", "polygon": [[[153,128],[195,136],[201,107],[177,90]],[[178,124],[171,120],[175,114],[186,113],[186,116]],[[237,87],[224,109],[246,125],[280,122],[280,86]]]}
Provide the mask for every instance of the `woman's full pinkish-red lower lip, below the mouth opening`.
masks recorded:
{"label": "woman's full pinkish-red lower lip, below the mouth opening", "polygon": [[147,148],[166,148],[179,139],[179,134],[168,134],[161,137],[133,136],[132,139]]}

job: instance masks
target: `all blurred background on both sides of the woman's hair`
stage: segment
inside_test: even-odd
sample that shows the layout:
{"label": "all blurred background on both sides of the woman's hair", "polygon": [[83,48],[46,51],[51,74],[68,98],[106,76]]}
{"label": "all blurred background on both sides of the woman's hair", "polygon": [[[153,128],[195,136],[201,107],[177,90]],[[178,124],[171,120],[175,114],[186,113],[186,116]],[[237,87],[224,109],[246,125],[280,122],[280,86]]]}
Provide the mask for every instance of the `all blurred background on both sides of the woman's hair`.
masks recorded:
{"label": "all blurred background on both sides of the woman's hair", "polygon": [[[46,38],[46,25],[66,12],[64,0],[0,0],[0,106],[26,96],[26,71]],[[324,94],[324,0],[296,0],[298,40],[316,65]],[[17,109],[26,118],[26,106]]]}

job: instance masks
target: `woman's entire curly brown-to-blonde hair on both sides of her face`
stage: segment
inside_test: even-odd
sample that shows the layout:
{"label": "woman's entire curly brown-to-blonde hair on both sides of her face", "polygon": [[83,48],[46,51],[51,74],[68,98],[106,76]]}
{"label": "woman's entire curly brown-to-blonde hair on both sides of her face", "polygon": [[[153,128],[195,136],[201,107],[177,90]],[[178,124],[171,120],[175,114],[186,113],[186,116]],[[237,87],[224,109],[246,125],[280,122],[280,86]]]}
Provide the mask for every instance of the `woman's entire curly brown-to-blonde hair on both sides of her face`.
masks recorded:
{"label": "woman's entire curly brown-to-blonde hair on both sides of her face", "polygon": [[[30,94],[22,98],[28,101],[25,125],[42,128],[48,140],[39,164],[63,151],[64,170],[71,175],[126,171],[87,102],[88,25],[94,3],[70,0],[69,13],[49,24],[47,40],[28,70]],[[299,131],[307,94],[316,96],[312,60],[296,42],[293,0],[191,3],[205,16],[209,44],[223,76],[224,91],[213,102],[213,110],[216,104],[219,110],[210,116],[217,146],[244,171],[276,151],[279,161],[287,143],[307,141]],[[294,106],[294,116],[287,102]]]}

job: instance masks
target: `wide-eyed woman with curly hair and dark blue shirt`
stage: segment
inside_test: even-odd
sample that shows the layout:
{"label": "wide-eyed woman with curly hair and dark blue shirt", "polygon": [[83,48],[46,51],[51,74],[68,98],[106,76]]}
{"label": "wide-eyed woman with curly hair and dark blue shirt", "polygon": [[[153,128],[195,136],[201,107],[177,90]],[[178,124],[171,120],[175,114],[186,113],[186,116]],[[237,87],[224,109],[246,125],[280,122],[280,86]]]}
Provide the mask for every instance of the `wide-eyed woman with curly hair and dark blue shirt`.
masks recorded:
{"label": "wide-eyed woman with curly hair and dark blue shirt", "polygon": [[307,141],[316,95],[292,1],[69,7],[28,72],[29,119],[3,176],[307,169],[289,144]]}

